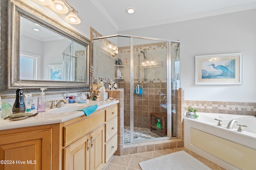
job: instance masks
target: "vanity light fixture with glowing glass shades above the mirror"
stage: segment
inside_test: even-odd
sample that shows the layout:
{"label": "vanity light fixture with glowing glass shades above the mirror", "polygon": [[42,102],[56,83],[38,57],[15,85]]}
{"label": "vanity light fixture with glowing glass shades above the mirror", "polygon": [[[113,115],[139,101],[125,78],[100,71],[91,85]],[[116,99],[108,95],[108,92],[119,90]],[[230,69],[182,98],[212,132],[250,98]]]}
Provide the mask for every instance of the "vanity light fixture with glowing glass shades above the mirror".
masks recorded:
{"label": "vanity light fixture with glowing glass shades above the mirror", "polygon": [[67,14],[70,8],[70,13],[68,16],[65,17],[65,20],[68,23],[71,24],[79,24],[81,23],[81,20],[77,17],[76,14],[78,14],[78,11],[75,10],[72,6],[70,6],[66,0],[33,0],[34,2],[45,5],[45,6],[50,6],[50,8],[59,14]]}

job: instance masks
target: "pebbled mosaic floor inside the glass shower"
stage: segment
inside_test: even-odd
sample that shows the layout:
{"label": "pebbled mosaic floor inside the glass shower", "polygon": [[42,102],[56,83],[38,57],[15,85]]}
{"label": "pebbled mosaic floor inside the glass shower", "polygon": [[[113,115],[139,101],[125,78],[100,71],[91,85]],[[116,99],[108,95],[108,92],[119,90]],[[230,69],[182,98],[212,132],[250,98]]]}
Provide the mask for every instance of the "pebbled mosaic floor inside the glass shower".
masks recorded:
{"label": "pebbled mosaic floor inside the glass shower", "polygon": [[[163,137],[156,131],[150,131],[150,128],[145,127],[134,127],[133,132],[134,141],[141,141],[145,139],[154,139],[158,137]],[[130,126],[124,126],[124,143],[130,142]]]}

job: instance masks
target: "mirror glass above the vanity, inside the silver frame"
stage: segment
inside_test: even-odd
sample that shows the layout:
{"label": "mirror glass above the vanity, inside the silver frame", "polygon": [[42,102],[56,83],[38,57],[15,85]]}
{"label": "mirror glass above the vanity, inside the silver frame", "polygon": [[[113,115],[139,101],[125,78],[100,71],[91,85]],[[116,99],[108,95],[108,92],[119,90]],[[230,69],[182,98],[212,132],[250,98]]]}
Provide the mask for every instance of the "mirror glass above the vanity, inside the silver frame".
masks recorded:
{"label": "mirror glass above the vanity, inside the silver frame", "polygon": [[85,82],[86,51],[76,43],[20,17],[20,79]]}

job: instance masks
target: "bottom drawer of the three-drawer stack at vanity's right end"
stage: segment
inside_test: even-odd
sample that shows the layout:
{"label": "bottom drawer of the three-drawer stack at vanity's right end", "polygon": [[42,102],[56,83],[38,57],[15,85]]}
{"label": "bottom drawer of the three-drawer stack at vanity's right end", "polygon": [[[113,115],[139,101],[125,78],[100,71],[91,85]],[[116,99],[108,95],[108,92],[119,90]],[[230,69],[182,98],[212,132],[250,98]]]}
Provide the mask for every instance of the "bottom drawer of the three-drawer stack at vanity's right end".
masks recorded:
{"label": "bottom drawer of the three-drawer stack at vanity's right end", "polygon": [[111,158],[111,156],[117,150],[117,133],[114,137],[105,145],[105,163]]}

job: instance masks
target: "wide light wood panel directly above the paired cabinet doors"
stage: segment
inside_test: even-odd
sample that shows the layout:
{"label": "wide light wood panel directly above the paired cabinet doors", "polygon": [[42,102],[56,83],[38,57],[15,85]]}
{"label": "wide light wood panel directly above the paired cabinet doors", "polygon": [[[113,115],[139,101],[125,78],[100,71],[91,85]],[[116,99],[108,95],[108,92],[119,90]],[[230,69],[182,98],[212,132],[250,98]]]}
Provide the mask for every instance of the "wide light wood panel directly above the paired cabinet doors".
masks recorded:
{"label": "wide light wood panel directly above the paired cabinet doors", "polygon": [[86,135],[105,122],[104,111],[64,127],[64,146]]}

